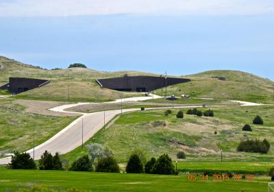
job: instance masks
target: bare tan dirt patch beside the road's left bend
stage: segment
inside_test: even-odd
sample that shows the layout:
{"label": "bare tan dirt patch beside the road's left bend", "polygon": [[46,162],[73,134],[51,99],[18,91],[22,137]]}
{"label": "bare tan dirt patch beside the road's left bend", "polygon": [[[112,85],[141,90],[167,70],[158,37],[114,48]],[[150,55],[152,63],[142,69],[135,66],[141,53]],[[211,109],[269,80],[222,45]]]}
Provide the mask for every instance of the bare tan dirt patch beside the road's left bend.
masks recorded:
{"label": "bare tan dirt patch beside the road's left bend", "polygon": [[62,106],[66,103],[64,102],[57,102],[57,101],[35,101],[35,100],[23,100],[19,99],[14,101],[15,104],[19,104],[25,106],[25,111],[38,114],[38,115],[45,115],[45,116],[57,116],[57,117],[74,117],[79,116],[78,114],[74,113],[64,113],[64,112],[55,112],[48,110],[49,108],[54,108],[57,106]]}

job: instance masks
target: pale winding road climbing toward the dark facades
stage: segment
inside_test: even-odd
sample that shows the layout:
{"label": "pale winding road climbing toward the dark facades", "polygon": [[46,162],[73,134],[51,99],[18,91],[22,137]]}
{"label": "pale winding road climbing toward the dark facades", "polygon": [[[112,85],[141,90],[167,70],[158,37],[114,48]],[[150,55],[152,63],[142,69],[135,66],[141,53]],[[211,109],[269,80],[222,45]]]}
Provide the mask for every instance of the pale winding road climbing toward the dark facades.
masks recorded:
{"label": "pale winding road climbing toward the dark facades", "polygon": [[[158,95],[153,95],[154,99],[160,98]],[[123,102],[125,101],[144,101],[147,99],[152,99],[151,97],[132,97],[127,99],[122,99]],[[121,99],[117,99],[116,101],[108,102],[121,102]],[[242,106],[260,106],[261,104],[254,104],[244,101],[235,101],[240,103]],[[58,106],[55,108],[51,108],[49,110],[55,112],[66,112],[66,108],[71,108],[73,106],[81,106],[86,103],[79,103],[79,104],[69,104],[64,106]],[[88,103],[89,104],[89,103]],[[211,106],[217,107],[217,106]],[[220,106],[218,106],[220,107]],[[171,108],[171,107],[169,107]],[[175,107],[175,108],[197,108],[197,106],[184,106],[184,107]],[[155,108],[147,108],[147,110],[151,110]],[[157,108],[163,109],[163,108]],[[123,112],[132,112],[140,110],[139,108],[132,108],[132,109],[123,109]],[[38,145],[33,149],[27,151],[27,153],[34,155],[34,159],[40,159],[40,156],[45,152],[45,150],[51,152],[51,154],[55,154],[55,152],[59,152],[60,154],[66,154],[71,152],[73,149],[82,145],[82,142],[88,141],[92,136],[94,136],[101,128],[103,128],[105,123],[111,121],[116,115],[121,114],[121,110],[108,110],[105,112],[93,112],[93,113],[82,113],[82,112],[71,112],[71,113],[78,113],[82,116],[73,121],[69,126],[55,134],[51,139]],[[83,138],[83,139],[82,139]],[[10,163],[11,157],[1,158],[0,165],[6,165]]]}

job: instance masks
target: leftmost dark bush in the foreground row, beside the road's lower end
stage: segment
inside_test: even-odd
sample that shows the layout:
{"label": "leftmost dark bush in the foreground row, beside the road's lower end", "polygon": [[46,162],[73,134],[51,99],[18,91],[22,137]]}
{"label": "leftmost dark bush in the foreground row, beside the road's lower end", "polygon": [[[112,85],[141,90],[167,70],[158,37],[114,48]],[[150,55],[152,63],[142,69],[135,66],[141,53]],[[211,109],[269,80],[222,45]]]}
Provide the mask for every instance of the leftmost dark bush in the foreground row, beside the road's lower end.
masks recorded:
{"label": "leftmost dark bush in the foreground row, beside the road's lower end", "polygon": [[36,169],[34,159],[29,154],[14,152],[11,163],[8,164],[9,169]]}

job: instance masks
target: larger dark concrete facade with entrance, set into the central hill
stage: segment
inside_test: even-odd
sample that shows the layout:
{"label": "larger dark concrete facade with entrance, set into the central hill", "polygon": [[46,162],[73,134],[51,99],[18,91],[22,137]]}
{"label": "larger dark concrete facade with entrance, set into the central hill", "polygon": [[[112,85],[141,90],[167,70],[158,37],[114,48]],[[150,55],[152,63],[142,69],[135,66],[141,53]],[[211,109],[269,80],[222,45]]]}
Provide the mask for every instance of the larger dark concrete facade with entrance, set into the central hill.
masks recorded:
{"label": "larger dark concrete facade with entrance, set into the central hill", "polygon": [[165,86],[190,82],[189,79],[153,76],[127,76],[97,80],[103,88],[116,91],[149,92]]}

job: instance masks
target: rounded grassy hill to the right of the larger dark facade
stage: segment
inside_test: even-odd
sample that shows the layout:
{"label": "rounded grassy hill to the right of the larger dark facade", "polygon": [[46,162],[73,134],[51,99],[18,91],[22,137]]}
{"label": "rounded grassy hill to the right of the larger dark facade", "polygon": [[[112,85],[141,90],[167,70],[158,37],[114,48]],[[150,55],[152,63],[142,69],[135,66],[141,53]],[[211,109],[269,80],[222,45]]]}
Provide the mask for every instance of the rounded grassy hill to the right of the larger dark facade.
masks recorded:
{"label": "rounded grassy hill to the right of the larger dark facade", "polygon": [[[191,83],[168,88],[168,94],[188,94],[192,97],[214,99],[241,99],[262,103],[274,103],[274,82],[242,71],[206,71],[187,75]],[[227,77],[227,81],[213,77]],[[162,90],[158,90],[160,93]],[[191,93],[190,93],[191,91]]]}

